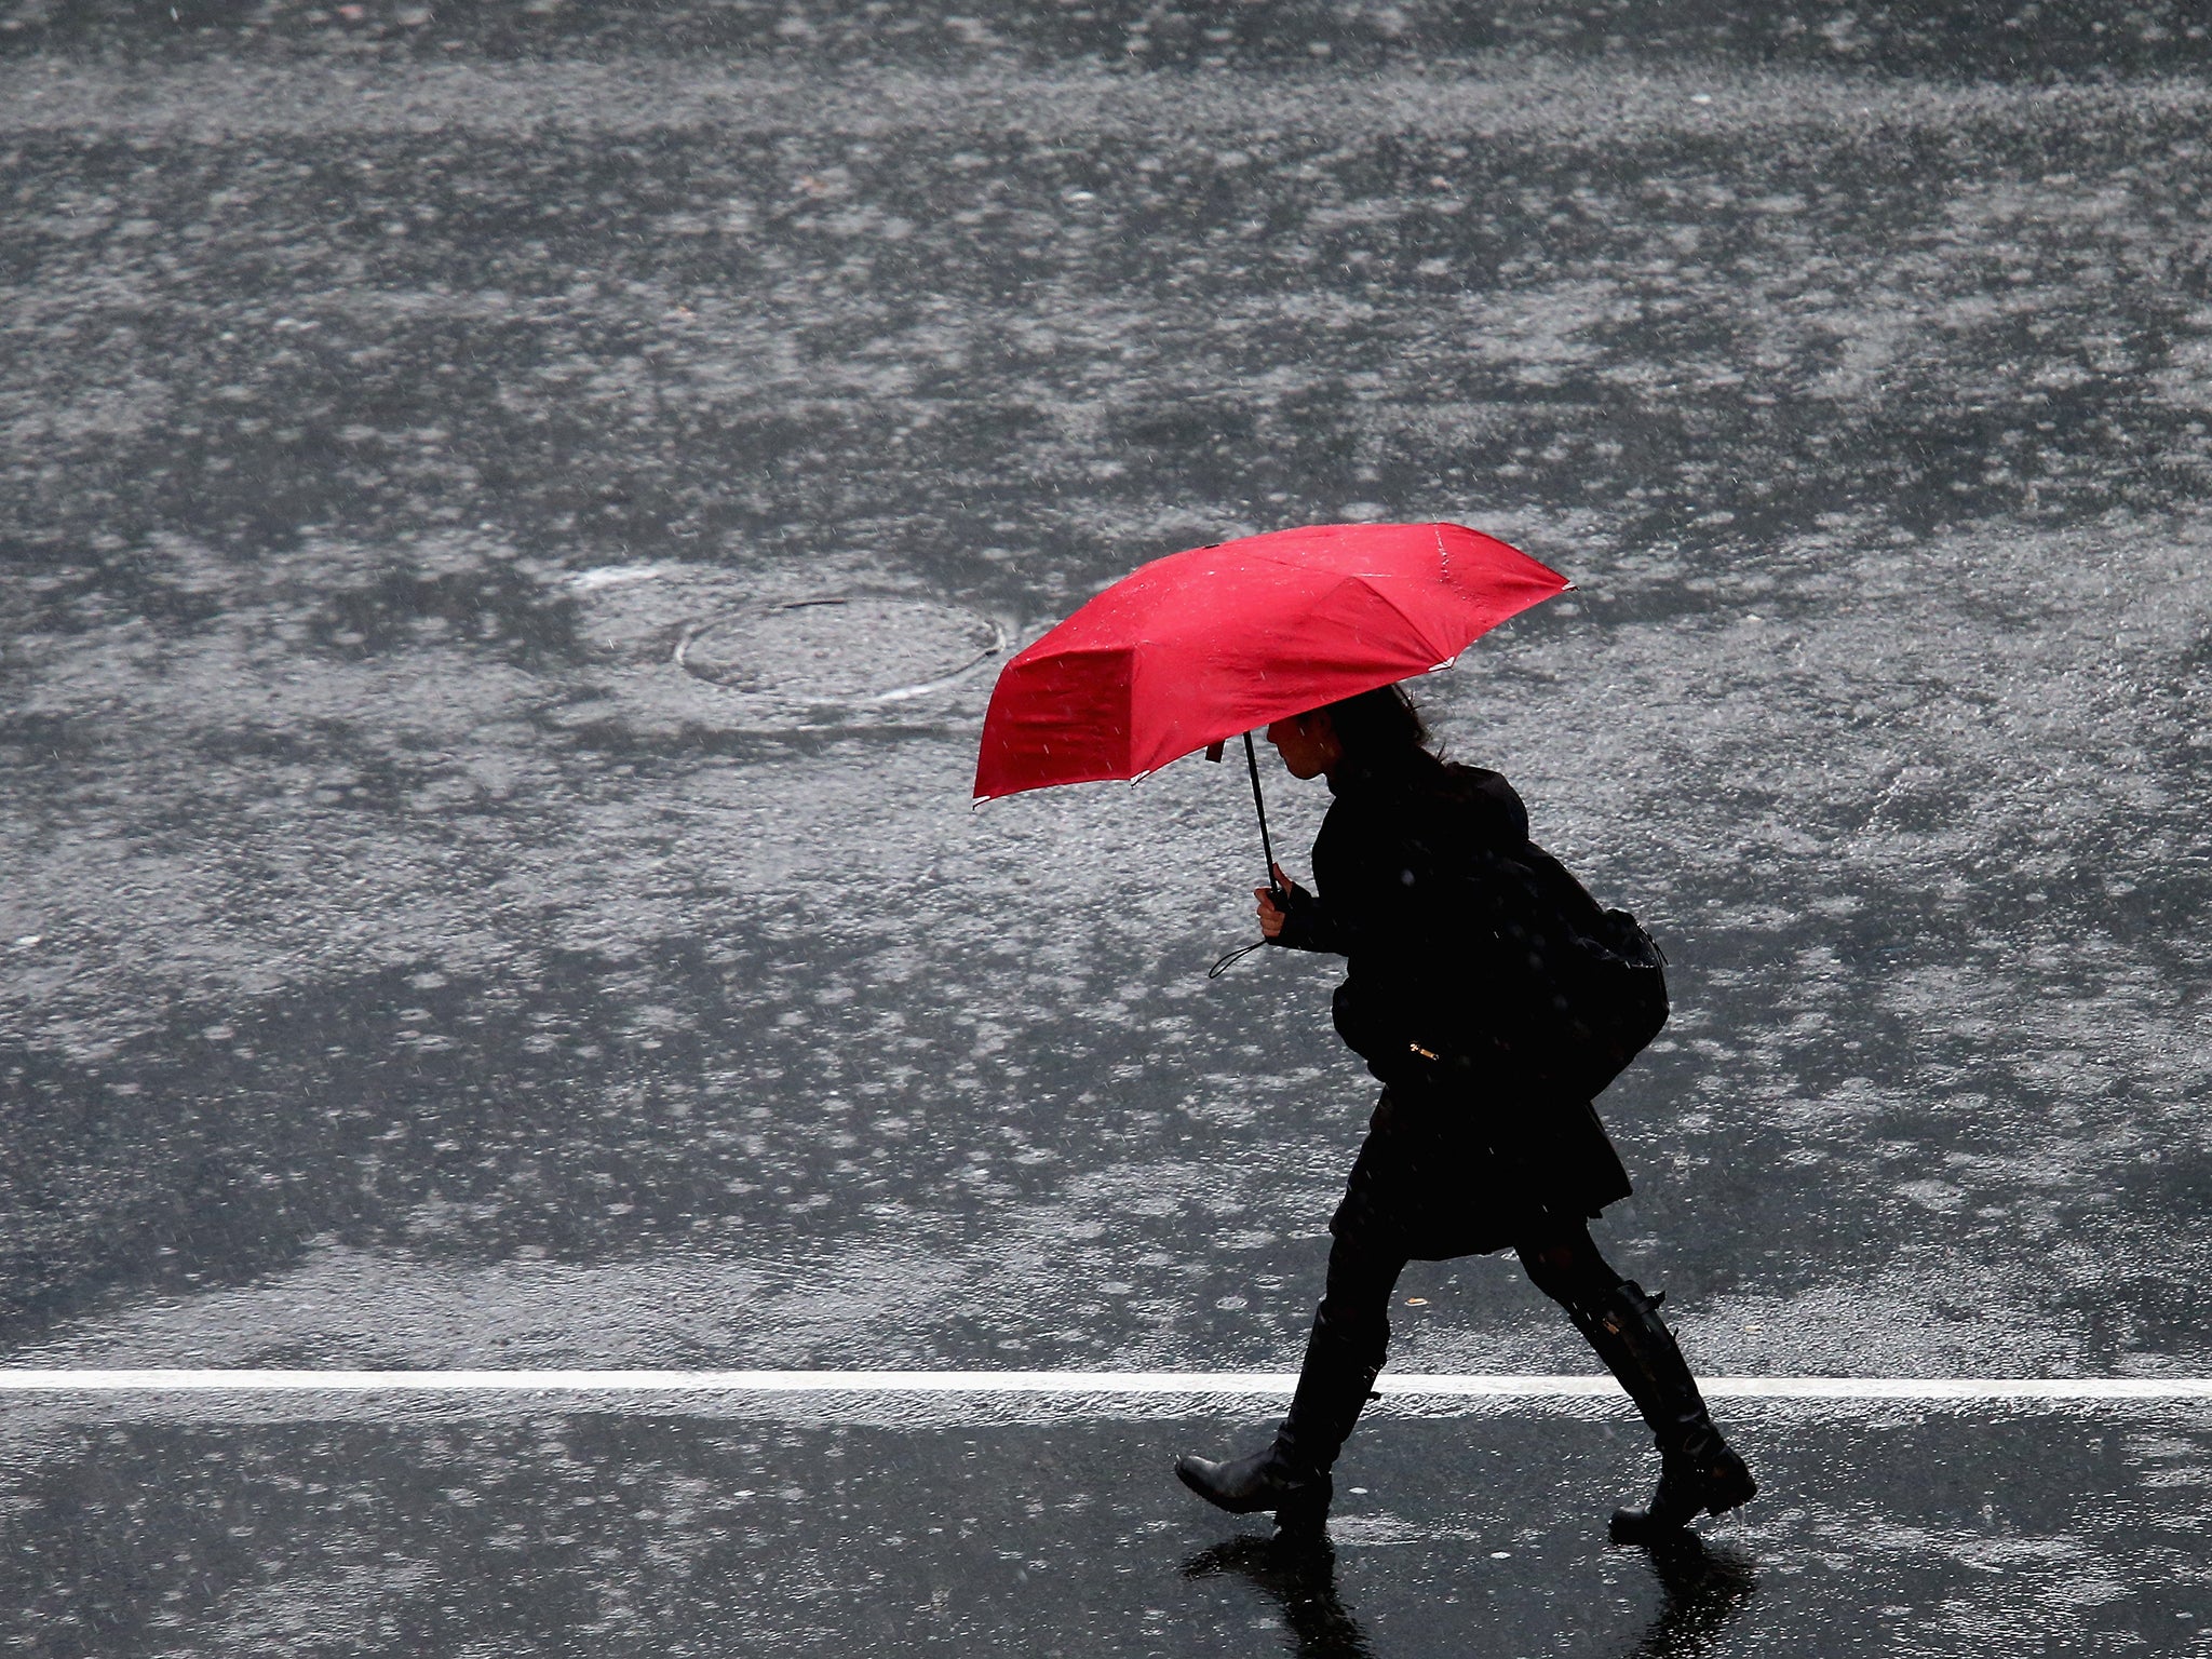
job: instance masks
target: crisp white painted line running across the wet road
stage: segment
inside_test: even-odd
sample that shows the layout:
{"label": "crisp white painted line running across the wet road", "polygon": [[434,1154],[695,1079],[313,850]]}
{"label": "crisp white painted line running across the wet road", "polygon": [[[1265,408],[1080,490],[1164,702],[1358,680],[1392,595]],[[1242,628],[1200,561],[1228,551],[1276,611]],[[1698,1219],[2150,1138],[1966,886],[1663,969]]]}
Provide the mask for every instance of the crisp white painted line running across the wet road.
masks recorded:
{"label": "crisp white painted line running across the wet road", "polygon": [[[1276,1394],[1294,1371],[0,1369],[7,1394]],[[1710,1376],[1717,1400],[2212,1400],[2212,1378]],[[1383,1376],[1402,1398],[1617,1398],[1610,1376]]]}

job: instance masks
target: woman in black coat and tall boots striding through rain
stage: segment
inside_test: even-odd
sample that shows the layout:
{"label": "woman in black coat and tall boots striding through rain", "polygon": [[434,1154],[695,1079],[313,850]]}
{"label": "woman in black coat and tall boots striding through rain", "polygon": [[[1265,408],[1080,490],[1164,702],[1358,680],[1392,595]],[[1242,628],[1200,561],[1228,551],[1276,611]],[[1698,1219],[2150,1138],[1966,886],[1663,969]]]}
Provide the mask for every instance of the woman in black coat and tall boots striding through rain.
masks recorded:
{"label": "woman in black coat and tall boots striding through rain", "polygon": [[1431,754],[1396,686],[1276,721],[1267,741],[1292,776],[1327,776],[1336,799],[1314,841],[1316,891],[1276,869],[1281,900],[1256,891],[1261,931],[1347,958],[1336,1031],[1383,1097],[1329,1221],[1327,1285],[1283,1427],[1256,1453],[1183,1455],[1175,1473],[1219,1509],[1272,1511],[1283,1537],[1318,1535],[1405,1263],[1511,1248],[1659,1442],[1659,1486],[1644,1509],[1615,1511],[1613,1535],[1655,1537],[1743,1504],[1759,1484],[1712,1427],[1659,1296],[1590,1241],[1590,1219],[1630,1186],[1590,1086],[1562,1079],[1531,1040],[1555,1029],[1559,1004],[1522,925],[1542,905],[1528,872],[1557,865],[1531,845],[1520,796],[1495,772]]}

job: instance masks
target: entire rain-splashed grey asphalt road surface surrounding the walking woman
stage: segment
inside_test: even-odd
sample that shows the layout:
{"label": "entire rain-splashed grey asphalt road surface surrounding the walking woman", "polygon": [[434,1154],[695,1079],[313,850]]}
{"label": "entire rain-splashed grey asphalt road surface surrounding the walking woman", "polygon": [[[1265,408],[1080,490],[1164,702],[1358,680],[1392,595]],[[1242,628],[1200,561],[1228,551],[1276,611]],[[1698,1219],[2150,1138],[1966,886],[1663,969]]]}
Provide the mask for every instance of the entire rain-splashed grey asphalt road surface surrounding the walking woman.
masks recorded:
{"label": "entire rain-splashed grey asphalt road surface surrounding the walking woman", "polygon": [[[1241,781],[971,814],[969,664],[1449,518],[1582,584],[1422,690],[1674,962],[1601,1239],[1692,1360],[2212,1367],[2192,9],[164,11],[0,4],[0,1360],[1292,1365],[1367,1086],[1325,964],[1203,980]],[[1405,1294],[1586,1369],[1511,1263]],[[1179,1573],[1212,1420],[867,1411],[11,1407],[7,1639],[1356,1650]],[[1750,1438],[1756,1597],[1646,1641],[1626,1436],[1389,1418],[1340,1613],[2212,1617],[2201,1413]]]}

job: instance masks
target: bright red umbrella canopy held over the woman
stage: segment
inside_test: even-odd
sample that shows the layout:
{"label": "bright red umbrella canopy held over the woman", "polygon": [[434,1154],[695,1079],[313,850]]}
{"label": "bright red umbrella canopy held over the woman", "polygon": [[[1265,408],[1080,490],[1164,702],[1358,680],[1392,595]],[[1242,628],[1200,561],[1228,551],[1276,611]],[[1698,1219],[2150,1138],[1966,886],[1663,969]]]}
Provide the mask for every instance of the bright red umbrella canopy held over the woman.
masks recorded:
{"label": "bright red umbrella canopy held over the woman", "polygon": [[1310,524],[1170,553],[1006,664],[982,723],[975,799],[1141,779],[1239,732],[1447,668],[1568,586],[1462,524]]}

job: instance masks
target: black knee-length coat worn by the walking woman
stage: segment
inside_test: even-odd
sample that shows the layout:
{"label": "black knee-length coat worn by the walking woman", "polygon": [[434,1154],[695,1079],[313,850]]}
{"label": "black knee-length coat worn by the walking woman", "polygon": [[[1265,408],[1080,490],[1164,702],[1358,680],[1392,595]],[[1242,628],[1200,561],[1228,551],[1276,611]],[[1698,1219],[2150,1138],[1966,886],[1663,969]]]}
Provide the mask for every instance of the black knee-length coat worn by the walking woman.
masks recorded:
{"label": "black knee-length coat worn by the walking woman", "polygon": [[1383,1079],[1329,1228],[1444,1259],[1577,1228],[1626,1199],[1628,1172],[1588,1099],[1513,1057],[1544,989],[1502,940],[1531,902],[1528,810],[1498,772],[1409,752],[1338,765],[1314,889],[1279,945],[1347,958],[1334,1015]]}

